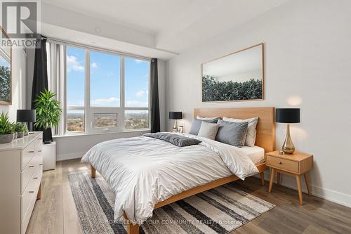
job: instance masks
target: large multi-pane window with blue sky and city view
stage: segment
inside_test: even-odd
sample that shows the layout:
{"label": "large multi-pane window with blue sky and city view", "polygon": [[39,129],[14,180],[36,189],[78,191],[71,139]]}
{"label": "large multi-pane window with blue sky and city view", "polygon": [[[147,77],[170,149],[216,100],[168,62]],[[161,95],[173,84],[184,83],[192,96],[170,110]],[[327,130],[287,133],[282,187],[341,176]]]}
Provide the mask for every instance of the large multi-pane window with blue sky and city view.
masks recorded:
{"label": "large multi-pane window with blue sky and city view", "polygon": [[67,133],[149,128],[150,61],[66,47]]}

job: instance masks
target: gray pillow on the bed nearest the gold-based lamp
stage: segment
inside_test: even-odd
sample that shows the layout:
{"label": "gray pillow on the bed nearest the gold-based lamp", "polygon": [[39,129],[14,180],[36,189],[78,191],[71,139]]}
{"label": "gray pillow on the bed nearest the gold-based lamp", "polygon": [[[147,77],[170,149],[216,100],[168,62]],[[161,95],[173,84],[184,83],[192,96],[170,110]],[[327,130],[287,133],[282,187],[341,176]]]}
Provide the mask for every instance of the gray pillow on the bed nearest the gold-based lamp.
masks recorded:
{"label": "gray pillow on the bed nearest the gold-based lamp", "polygon": [[237,147],[243,146],[247,131],[248,122],[226,122],[222,119],[218,120],[220,124],[216,136],[216,141],[234,145]]}

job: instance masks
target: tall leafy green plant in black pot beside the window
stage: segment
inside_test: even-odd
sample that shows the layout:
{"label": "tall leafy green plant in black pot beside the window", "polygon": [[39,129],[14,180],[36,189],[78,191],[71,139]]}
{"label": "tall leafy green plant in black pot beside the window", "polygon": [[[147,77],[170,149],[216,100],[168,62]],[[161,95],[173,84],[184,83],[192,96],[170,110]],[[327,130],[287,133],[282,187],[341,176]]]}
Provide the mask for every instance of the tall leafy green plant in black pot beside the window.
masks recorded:
{"label": "tall leafy green plant in black pot beside the window", "polygon": [[34,108],[37,110],[37,122],[34,126],[37,130],[43,131],[43,141],[50,143],[53,141],[51,128],[60,122],[61,108],[60,102],[53,99],[55,93],[45,90],[40,92],[34,101]]}

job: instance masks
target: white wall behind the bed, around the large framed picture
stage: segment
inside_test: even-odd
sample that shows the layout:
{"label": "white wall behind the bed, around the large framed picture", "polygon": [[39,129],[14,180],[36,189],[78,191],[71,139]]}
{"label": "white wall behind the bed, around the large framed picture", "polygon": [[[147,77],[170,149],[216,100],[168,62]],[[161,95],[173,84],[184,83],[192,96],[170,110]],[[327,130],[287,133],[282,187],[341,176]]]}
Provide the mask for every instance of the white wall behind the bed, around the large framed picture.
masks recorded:
{"label": "white wall behind the bed, around the large framed picture", "polygon": [[[241,27],[190,48],[167,63],[166,110],[185,112],[189,131],[193,108],[296,105],[301,123],[292,126],[296,149],[314,155],[314,195],[351,206],[351,1],[295,0]],[[201,63],[265,43],[265,100],[201,103]],[[168,129],[171,122],[166,119]],[[285,125],[277,124],[277,148]],[[296,188],[284,176],[283,184]]]}

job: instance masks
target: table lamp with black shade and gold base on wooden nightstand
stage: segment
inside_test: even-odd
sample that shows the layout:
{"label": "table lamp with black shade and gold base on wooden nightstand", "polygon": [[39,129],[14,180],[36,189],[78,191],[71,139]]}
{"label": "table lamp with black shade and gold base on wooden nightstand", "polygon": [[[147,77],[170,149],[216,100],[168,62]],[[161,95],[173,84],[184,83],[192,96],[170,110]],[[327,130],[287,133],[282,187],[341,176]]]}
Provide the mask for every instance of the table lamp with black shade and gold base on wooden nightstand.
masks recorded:
{"label": "table lamp with black shade and gold base on wooden nightstand", "polygon": [[290,137],[290,124],[300,122],[300,108],[277,108],[275,112],[275,122],[286,123],[286,137],[282,150],[287,155],[293,154],[293,152],[295,152],[295,146]]}

